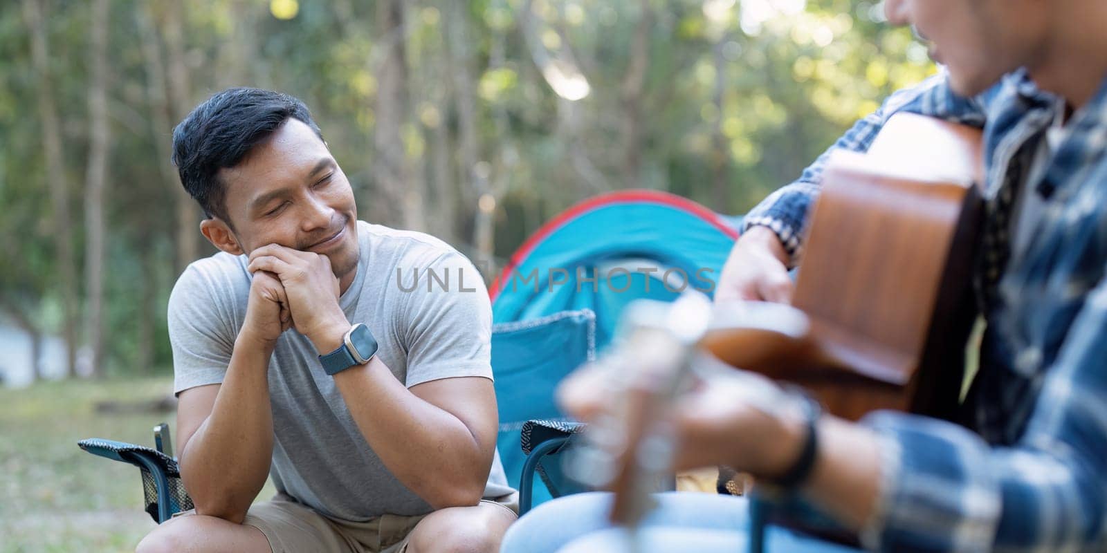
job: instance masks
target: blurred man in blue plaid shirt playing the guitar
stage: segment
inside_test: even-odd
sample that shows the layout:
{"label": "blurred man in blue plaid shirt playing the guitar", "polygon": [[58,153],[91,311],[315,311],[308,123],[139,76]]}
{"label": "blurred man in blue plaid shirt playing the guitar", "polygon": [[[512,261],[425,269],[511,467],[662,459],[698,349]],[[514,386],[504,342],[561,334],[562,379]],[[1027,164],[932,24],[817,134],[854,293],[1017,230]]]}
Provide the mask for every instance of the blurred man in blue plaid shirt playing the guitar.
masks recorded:
{"label": "blurred man in blue plaid shirt playing the guitar", "polygon": [[[831,150],[867,150],[900,112],[983,129],[985,220],[972,280],[986,331],[960,405],[968,428],[890,411],[809,421],[799,409],[774,414],[735,399],[741,384],[724,382],[679,399],[676,468],[725,463],[764,480],[788,477],[790,491],[870,550],[1105,551],[1107,3],[887,0],[886,11],[931,42],[943,71],[892,95]],[[800,263],[826,159],[748,213],[716,301],[792,299],[787,269]],[[567,383],[569,410],[584,420],[602,413],[610,399],[601,382],[586,372]],[[720,513],[745,503],[727,500],[703,498],[697,508],[695,498],[663,499],[666,520],[656,524],[726,519],[716,529],[741,540],[741,528],[725,524],[743,515]],[[504,551],[542,542],[544,519],[563,517],[558,503],[572,501],[582,513],[584,502],[607,499],[542,505]],[[559,520],[560,531],[578,520]]]}

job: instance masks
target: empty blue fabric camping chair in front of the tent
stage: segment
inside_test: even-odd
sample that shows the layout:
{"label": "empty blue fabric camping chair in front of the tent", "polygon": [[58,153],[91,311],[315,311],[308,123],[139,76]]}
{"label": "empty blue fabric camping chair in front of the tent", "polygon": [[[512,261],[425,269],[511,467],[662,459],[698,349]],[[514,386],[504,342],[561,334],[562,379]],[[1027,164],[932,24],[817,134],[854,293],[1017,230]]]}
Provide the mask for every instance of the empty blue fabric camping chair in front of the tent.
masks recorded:
{"label": "empty blue fabric camping chair in front of the tent", "polygon": [[[530,419],[565,419],[554,401],[557,383],[596,356],[596,315],[567,311],[493,325],[492,369],[499,407],[496,447],[508,482],[518,489],[526,455],[523,426]],[[550,499],[536,483],[534,504]]]}

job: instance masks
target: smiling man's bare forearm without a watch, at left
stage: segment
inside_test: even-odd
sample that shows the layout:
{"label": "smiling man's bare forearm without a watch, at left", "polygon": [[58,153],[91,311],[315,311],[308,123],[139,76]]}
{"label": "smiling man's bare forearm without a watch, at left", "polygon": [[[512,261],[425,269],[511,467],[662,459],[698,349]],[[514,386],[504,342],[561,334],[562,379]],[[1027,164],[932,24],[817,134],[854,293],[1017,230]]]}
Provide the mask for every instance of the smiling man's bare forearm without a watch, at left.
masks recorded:
{"label": "smiling man's bare forearm without a watch, at left", "polygon": [[211,414],[180,451],[196,512],[240,523],[266,483],[273,429],[267,372],[271,346],[235,343]]}

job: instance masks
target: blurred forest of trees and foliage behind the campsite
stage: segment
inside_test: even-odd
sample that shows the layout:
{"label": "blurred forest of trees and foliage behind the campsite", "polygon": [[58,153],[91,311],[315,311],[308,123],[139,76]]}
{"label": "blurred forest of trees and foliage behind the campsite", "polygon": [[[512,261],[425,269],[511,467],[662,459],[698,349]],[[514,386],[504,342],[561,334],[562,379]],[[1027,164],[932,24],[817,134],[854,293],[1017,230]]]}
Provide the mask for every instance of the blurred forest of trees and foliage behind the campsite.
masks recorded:
{"label": "blurred forest of trees and foliage behind the campsite", "polygon": [[743,213],[933,72],[868,0],[7,0],[0,323],[52,376],[172,371],[214,250],[170,133],[228,86],[302,98],[362,218],[495,268],[604,191]]}

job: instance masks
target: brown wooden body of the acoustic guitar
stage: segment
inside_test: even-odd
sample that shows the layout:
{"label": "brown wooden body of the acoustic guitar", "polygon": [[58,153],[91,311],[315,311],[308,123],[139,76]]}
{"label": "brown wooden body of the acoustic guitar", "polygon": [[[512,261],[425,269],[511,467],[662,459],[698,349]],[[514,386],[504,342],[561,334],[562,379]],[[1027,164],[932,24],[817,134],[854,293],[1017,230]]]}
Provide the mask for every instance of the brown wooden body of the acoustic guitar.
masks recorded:
{"label": "brown wooden body of the acoustic guitar", "polygon": [[898,114],[867,154],[834,153],[793,298],[807,334],[755,342],[716,326],[701,344],[847,419],[883,408],[952,418],[975,313],[980,140],[975,128]]}

